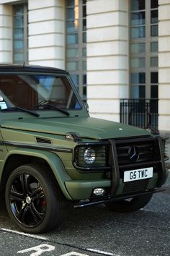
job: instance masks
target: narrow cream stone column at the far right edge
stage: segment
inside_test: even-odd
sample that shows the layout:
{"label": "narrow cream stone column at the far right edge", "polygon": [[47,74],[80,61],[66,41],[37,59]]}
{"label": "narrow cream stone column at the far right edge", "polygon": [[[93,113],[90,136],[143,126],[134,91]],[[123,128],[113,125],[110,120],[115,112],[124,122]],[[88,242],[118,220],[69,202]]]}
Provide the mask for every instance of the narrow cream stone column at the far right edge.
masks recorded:
{"label": "narrow cream stone column at the far right edge", "polygon": [[170,1],[158,4],[158,129],[170,133]]}

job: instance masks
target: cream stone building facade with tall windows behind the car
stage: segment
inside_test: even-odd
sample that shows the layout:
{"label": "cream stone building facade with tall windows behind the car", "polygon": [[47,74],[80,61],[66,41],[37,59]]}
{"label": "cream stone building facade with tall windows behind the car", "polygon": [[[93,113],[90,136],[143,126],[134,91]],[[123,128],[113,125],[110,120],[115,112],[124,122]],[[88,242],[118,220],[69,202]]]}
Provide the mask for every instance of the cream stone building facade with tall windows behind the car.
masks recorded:
{"label": "cream stone building facade with tall windows behind the car", "polygon": [[68,69],[91,116],[169,132],[169,12],[169,0],[0,0],[0,63]]}

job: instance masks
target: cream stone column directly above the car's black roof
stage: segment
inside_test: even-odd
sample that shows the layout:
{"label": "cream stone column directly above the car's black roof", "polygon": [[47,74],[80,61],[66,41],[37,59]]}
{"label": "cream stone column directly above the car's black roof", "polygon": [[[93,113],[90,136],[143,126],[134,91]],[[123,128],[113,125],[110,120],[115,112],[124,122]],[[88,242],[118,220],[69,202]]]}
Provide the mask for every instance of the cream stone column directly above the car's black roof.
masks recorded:
{"label": "cream stone column directly above the car's black roof", "polygon": [[28,1],[29,64],[65,68],[65,1]]}

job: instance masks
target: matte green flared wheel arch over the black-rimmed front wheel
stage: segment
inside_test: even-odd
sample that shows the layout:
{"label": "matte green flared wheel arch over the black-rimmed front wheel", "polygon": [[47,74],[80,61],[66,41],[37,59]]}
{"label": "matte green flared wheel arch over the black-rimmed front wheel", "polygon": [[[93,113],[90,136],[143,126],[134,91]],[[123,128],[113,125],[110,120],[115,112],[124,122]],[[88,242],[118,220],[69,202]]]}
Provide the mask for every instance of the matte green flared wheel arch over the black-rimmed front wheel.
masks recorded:
{"label": "matte green flared wheel arch over the black-rimmed front wheel", "polygon": [[43,159],[45,162],[48,163],[51,170],[53,171],[55,179],[57,180],[58,185],[61,187],[63,195],[65,195],[68,200],[72,200],[71,196],[68,194],[68,191],[65,187],[65,182],[70,181],[71,178],[66,173],[63,163],[62,163],[61,159],[58,157],[58,155],[56,155],[53,152],[49,152],[49,151],[45,151],[45,150],[32,149],[30,151],[26,148],[19,148],[19,149],[11,150],[11,151],[9,151],[8,154],[6,154],[6,158],[4,160],[4,165],[2,166],[2,169],[3,169],[2,173],[4,173],[4,166],[5,166],[6,162],[8,161],[8,158],[10,157],[10,155],[28,155],[28,156]]}

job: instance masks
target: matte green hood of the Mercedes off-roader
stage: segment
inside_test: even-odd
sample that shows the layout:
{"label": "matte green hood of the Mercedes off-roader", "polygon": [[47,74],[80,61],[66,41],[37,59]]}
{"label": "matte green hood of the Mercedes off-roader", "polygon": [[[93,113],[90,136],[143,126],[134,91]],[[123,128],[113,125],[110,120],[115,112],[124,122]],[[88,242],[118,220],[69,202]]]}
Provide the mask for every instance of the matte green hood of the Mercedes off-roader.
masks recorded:
{"label": "matte green hood of the Mercedes off-roader", "polygon": [[56,135],[77,132],[81,137],[95,140],[151,135],[150,132],[144,129],[91,117],[17,119],[17,121],[4,121],[1,127]]}

